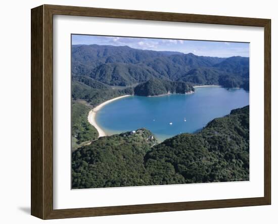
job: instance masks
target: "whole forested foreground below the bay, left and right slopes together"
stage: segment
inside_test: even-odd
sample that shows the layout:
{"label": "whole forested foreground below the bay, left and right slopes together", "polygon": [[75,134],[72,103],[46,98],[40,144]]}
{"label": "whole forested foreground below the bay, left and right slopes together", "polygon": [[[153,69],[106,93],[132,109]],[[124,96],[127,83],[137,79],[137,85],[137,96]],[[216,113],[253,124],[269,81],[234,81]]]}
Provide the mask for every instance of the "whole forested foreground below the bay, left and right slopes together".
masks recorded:
{"label": "whole forested foreground below the bay, left and right slopes together", "polygon": [[72,153],[72,187],[249,180],[249,106],[214,119],[199,133],[156,143],[150,131],[139,129],[79,148]]}

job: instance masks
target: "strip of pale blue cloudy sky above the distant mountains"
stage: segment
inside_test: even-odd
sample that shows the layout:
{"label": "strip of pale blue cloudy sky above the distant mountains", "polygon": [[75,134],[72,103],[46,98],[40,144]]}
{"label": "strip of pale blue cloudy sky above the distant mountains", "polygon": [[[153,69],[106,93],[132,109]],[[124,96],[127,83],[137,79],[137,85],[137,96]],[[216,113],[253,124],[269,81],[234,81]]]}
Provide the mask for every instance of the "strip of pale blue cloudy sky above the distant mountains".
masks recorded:
{"label": "strip of pale blue cloudy sky above the distant mountains", "polygon": [[249,44],[237,42],[189,41],[154,38],[125,38],[118,36],[72,35],[72,44],[129,46],[154,51],[178,51],[199,56],[249,57]]}

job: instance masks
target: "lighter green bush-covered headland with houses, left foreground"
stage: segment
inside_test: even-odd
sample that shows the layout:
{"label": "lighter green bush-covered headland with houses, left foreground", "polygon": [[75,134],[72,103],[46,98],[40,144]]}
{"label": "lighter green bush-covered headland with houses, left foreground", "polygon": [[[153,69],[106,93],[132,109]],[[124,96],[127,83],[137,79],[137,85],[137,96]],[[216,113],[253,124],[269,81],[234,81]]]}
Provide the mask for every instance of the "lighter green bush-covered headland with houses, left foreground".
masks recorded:
{"label": "lighter green bush-covered headland with houses, left foreground", "polygon": [[144,156],[157,143],[146,129],[101,137],[72,153],[72,188],[146,185]]}

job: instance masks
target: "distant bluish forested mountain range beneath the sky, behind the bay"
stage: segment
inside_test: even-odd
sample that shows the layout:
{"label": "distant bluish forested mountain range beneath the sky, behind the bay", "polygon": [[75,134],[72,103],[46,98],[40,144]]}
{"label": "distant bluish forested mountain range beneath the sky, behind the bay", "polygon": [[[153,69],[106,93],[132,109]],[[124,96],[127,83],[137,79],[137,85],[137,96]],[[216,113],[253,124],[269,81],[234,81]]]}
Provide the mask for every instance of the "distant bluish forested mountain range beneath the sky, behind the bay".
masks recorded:
{"label": "distant bluish forested mountain range beneath the sky, behind the bay", "polygon": [[110,86],[130,86],[155,78],[249,89],[247,57],[218,58],[127,46],[72,45],[71,66],[75,80],[82,82],[88,77]]}

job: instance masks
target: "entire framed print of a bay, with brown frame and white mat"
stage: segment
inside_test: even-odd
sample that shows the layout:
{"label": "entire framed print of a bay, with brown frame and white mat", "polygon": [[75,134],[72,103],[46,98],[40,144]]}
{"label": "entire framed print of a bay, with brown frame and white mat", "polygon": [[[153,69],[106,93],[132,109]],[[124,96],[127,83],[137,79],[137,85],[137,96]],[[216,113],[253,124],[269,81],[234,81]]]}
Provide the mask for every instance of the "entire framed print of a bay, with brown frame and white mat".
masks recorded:
{"label": "entire framed print of a bay, with brown frame and white mat", "polygon": [[31,10],[31,214],[269,205],[270,20]]}

